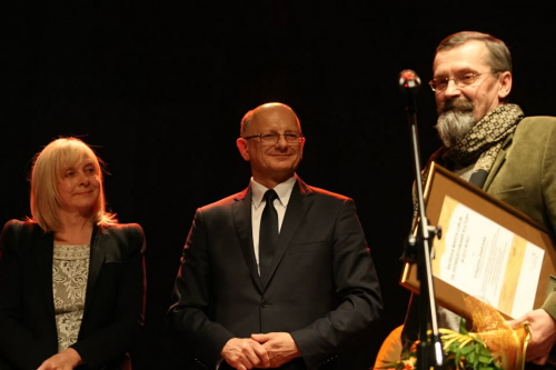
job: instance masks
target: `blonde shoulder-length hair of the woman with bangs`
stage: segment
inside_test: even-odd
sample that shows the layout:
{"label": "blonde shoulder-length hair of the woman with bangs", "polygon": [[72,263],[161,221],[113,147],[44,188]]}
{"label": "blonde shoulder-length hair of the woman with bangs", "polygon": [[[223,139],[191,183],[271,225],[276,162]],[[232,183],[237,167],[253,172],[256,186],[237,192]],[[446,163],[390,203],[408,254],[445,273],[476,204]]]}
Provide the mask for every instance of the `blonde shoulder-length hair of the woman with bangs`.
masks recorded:
{"label": "blonde shoulder-length hair of the woman with bangs", "polygon": [[58,192],[58,182],[63,172],[82,161],[91,158],[99,176],[99,197],[92,208],[91,221],[98,226],[117,223],[116,213],[106,210],[103,187],[103,161],[95,151],[78,138],[59,138],[51,141],[37,156],[31,169],[31,220],[37,222],[46,232],[58,231],[61,228],[59,209],[61,200]]}

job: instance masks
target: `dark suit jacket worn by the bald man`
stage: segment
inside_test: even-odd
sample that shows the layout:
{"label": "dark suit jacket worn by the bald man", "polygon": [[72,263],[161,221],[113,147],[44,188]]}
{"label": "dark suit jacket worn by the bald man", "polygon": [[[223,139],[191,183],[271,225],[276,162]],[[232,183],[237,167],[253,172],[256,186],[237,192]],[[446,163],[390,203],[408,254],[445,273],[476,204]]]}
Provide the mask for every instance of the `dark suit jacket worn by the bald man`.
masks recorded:
{"label": "dark suit jacket worn by the bald man", "polygon": [[198,209],[167,314],[188,342],[183,350],[215,369],[229,339],[281,331],[302,353],[284,369],[317,369],[344,352],[369,351],[365,334],[383,303],[351,199],[297,179],[271,270],[261,286],[250,188]]}

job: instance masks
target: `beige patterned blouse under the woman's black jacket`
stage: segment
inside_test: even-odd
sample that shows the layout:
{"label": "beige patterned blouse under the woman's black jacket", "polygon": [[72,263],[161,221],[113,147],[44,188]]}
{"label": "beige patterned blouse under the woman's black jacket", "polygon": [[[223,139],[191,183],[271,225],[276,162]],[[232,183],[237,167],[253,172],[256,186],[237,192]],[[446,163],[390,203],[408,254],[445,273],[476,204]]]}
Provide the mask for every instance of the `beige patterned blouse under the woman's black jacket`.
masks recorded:
{"label": "beige patterned blouse under the woman's black jacket", "polygon": [[90,244],[54,244],[52,289],[58,352],[77,342],[83,318],[89,260]]}

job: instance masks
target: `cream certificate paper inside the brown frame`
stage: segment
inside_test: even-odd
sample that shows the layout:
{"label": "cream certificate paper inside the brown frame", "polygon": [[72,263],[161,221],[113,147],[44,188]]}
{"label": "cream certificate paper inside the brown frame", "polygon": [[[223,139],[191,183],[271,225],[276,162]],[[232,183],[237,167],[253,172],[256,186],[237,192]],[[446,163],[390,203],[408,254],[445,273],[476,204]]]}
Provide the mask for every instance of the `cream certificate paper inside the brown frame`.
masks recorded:
{"label": "cream certificate paper inside the brown frame", "polygon": [[509,317],[533,310],[544,250],[445,197],[433,274]]}

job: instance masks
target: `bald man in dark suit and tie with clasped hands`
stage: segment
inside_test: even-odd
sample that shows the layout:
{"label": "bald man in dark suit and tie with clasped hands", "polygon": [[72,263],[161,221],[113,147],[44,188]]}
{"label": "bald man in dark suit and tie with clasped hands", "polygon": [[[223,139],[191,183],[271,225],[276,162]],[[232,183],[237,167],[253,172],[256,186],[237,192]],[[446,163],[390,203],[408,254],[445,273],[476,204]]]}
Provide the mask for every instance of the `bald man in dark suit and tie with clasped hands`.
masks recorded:
{"label": "bald man in dark suit and tie with clasped hands", "polygon": [[288,106],[249,111],[240,133],[250,184],[197,210],[169,328],[207,369],[368,369],[383,302],[354,201],[297,177],[305,138]]}

